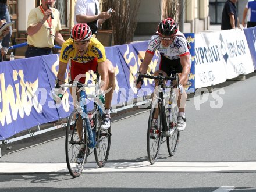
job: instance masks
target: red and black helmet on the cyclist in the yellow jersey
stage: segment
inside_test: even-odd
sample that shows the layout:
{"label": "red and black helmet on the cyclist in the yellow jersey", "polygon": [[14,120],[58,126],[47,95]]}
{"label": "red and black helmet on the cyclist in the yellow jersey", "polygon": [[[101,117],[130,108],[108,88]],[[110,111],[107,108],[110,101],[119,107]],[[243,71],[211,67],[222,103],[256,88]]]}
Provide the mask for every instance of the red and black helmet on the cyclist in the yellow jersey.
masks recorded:
{"label": "red and black helmet on the cyclist in the yellow jersey", "polygon": [[91,38],[91,29],[86,23],[77,23],[71,30],[70,37],[74,41],[85,41]]}

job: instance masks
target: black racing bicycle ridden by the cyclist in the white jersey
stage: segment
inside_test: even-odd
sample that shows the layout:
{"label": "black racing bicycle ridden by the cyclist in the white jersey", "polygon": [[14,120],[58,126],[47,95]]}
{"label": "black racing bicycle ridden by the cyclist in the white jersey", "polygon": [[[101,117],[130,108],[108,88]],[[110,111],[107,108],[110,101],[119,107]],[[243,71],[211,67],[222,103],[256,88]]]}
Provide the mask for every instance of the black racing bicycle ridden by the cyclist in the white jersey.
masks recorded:
{"label": "black racing bicycle ridden by the cyclist in the white jersey", "polygon": [[[155,87],[154,91],[155,95],[152,97],[147,129],[148,160],[151,164],[154,164],[157,161],[162,143],[166,141],[170,156],[175,154],[179,143],[180,132],[177,131],[179,109],[177,106],[178,93],[176,93],[179,76],[177,73],[165,77],[163,73],[159,73],[158,76],[151,76],[138,72],[138,79],[143,77],[158,81],[158,86]],[[168,80],[170,80],[169,85],[167,84]],[[154,120],[155,122],[153,122]]]}

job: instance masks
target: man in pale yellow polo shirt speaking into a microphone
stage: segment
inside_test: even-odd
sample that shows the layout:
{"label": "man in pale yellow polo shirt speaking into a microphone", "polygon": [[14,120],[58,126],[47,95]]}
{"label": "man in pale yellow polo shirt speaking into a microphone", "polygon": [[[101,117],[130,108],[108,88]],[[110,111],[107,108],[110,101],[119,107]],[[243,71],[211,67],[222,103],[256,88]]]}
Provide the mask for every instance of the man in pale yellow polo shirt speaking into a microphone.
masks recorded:
{"label": "man in pale yellow polo shirt speaking into a microphone", "polygon": [[[61,33],[59,11],[54,6],[55,0],[41,0],[41,5],[30,11],[27,20],[27,51],[25,57],[52,54],[54,40],[62,45],[65,40]],[[51,9],[48,9],[48,5]],[[54,16],[54,18],[51,17]]]}

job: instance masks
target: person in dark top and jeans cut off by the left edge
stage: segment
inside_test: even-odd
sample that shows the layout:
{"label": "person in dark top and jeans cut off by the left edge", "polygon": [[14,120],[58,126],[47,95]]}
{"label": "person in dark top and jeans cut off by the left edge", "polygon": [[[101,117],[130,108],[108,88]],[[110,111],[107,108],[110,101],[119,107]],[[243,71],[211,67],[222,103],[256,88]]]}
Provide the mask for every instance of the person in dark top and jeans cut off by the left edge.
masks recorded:
{"label": "person in dark top and jeans cut off by the left edge", "polygon": [[[0,0],[0,20],[6,20],[6,22],[10,22],[10,14],[8,11],[7,0]],[[10,37],[12,36],[12,27],[9,27],[9,33],[5,35],[5,37],[0,40],[0,61],[6,61],[6,54],[10,45]]]}

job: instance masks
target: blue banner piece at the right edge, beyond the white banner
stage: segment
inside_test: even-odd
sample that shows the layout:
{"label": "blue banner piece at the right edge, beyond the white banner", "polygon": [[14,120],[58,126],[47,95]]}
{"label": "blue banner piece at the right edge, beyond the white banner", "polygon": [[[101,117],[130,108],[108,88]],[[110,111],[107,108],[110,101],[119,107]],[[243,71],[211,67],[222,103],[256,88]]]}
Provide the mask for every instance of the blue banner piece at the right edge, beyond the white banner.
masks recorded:
{"label": "blue banner piece at the right edge, beyond the white banner", "polygon": [[256,70],[256,27],[244,29],[244,34],[253,59],[254,70]]}

